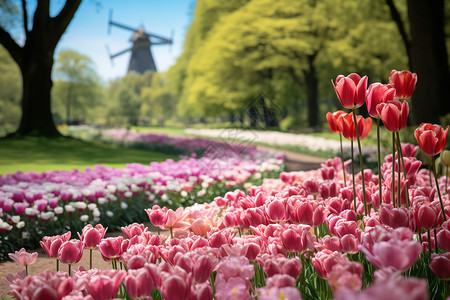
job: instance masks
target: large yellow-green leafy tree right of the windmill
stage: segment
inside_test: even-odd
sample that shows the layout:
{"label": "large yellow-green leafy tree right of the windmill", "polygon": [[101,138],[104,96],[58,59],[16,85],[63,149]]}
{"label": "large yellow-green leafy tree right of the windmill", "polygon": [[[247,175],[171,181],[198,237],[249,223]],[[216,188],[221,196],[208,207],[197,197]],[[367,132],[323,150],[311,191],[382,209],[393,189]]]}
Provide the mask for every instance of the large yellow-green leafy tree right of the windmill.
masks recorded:
{"label": "large yellow-green leafy tree right of the windmill", "polygon": [[[169,70],[184,116],[239,114],[264,91],[293,119],[304,114],[306,125],[320,126],[320,110],[330,96],[337,101],[331,78],[358,72],[385,81],[406,61],[380,2],[254,0],[224,10],[204,34],[197,18],[210,18],[198,9],[208,2],[197,2],[188,54]],[[380,6],[386,11],[374,9]]]}

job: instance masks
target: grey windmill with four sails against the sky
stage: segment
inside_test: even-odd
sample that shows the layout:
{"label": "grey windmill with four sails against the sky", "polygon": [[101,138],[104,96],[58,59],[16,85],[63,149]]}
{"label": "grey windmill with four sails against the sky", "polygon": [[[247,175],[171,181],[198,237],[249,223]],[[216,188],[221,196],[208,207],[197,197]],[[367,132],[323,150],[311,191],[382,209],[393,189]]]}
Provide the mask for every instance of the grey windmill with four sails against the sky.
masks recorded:
{"label": "grey windmill with four sails against the sky", "polygon": [[172,38],[168,39],[154,33],[146,32],[142,26],[138,29],[131,28],[127,25],[123,25],[113,21],[112,10],[109,12],[108,34],[111,33],[111,26],[116,26],[124,30],[130,30],[134,32],[130,39],[130,41],[133,43],[133,46],[131,46],[130,48],[122,50],[116,54],[111,54],[109,48],[106,47],[109,58],[111,59],[111,63],[113,63],[113,59],[115,57],[131,51],[131,58],[130,63],[128,64],[127,73],[135,71],[143,74],[148,70],[156,71],[155,61],[151,52],[151,46],[171,45],[173,40],[173,31]]}

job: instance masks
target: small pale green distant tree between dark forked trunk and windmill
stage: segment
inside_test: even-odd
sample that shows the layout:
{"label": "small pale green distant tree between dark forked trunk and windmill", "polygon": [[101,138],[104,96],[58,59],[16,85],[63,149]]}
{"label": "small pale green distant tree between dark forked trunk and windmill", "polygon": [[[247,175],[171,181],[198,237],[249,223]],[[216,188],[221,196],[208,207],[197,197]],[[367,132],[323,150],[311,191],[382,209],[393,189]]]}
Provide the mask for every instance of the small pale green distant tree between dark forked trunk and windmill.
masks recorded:
{"label": "small pale green distant tree between dark forked trunk and windmill", "polygon": [[74,50],[62,50],[56,59],[52,105],[64,112],[67,124],[86,120],[100,98],[99,77],[92,60]]}

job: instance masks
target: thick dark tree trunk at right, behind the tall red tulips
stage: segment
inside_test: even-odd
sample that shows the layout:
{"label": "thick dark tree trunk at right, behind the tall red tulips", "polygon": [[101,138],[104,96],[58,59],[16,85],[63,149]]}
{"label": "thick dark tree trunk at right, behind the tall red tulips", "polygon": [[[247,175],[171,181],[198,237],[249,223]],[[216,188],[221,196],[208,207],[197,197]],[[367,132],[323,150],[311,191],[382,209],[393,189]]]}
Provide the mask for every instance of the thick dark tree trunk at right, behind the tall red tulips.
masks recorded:
{"label": "thick dark tree trunk at right, behind the tall red tulips", "polygon": [[408,0],[411,70],[417,73],[412,104],[414,120],[439,123],[450,113],[449,65],[444,34],[444,1]]}

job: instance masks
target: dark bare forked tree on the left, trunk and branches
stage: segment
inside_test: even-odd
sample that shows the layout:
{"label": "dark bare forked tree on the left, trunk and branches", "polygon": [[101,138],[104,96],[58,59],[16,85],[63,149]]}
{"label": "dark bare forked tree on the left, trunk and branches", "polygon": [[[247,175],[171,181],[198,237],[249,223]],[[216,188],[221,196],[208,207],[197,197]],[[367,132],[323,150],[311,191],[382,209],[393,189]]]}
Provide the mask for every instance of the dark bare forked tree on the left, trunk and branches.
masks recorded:
{"label": "dark bare forked tree on the left, trunk and branches", "polygon": [[50,103],[53,55],[81,0],[65,1],[54,17],[50,16],[50,0],[39,0],[30,22],[27,1],[21,3],[23,46],[0,27],[0,43],[17,63],[22,75],[22,118],[16,134],[57,136],[59,132],[53,122]]}

